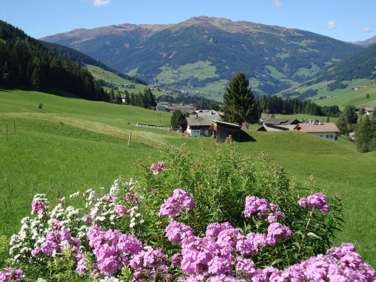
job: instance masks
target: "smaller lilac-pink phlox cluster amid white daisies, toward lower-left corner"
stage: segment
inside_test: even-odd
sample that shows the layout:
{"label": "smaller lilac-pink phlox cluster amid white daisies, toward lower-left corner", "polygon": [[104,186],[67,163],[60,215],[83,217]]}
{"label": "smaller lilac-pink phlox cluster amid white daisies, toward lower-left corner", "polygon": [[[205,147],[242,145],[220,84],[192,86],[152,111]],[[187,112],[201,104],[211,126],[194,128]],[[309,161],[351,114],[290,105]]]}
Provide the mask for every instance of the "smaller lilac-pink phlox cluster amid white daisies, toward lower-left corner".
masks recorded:
{"label": "smaller lilac-pink phlox cluster amid white daisies, toward lower-left corner", "polygon": [[39,250],[42,250],[48,256],[53,256],[54,253],[59,254],[64,248],[64,243],[68,244],[74,253],[77,253],[81,242],[78,238],[72,238],[72,235],[67,230],[55,230],[47,234],[44,242],[41,244],[41,247],[36,247],[32,253],[37,255],[40,253]]}

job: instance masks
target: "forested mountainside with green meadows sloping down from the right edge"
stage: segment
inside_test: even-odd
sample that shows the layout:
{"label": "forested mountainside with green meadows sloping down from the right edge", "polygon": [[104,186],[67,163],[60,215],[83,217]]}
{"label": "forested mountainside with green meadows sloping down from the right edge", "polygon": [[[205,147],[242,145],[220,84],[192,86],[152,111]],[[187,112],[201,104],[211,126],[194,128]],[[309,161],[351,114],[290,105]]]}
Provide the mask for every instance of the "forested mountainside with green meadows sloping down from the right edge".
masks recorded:
{"label": "forested mountainside with green meadows sloping down from the right edge", "polygon": [[[329,65],[299,87],[279,93],[321,106],[376,105],[376,44]],[[368,94],[368,95],[367,95]]]}

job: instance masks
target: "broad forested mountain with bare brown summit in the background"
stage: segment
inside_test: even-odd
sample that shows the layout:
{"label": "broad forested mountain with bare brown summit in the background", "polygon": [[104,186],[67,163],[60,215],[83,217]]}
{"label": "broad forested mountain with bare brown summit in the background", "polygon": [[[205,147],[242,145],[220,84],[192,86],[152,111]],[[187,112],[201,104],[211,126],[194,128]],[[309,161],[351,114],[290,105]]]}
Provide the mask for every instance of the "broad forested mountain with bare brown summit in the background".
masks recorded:
{"label": "broad forested mountain with bare brown summit in the background", "polygon": [[253,79],[255,91],[275,94],[361,50],[304,30],[206,16],[178,24],[75,29],[41,40],[160,86],[210,95],[221,93],[238,71]]}

